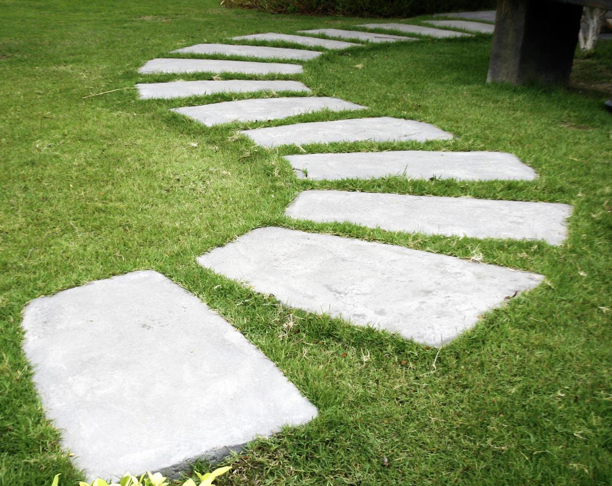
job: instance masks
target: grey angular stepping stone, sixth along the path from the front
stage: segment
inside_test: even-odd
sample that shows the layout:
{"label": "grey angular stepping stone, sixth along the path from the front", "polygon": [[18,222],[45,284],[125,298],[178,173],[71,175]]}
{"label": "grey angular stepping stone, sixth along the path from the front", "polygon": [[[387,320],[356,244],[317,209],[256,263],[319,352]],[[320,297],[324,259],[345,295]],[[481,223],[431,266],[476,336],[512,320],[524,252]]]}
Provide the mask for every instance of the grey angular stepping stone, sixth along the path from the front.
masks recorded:
{"label": "grey angular stepping stone, sixth along the path from the front", "polygon": [[199,107],[172,108],[204,125],[231,123],[236,121],[263,121],[287,118],[312,111],[363,110],[365,107],[330,97],[262,98],[223,103],[212,103]]}

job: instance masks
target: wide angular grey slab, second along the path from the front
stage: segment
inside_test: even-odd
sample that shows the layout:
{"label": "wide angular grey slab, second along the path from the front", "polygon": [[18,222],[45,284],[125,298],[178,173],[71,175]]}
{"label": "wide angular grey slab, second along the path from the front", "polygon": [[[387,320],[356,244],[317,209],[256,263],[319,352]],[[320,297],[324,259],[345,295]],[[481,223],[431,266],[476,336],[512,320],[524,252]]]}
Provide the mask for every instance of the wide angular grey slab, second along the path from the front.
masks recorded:
{"label": "wide angular grey slab, second along the path from the front", "polygon": [[259,228],[198,258],[283,304],[438,346],[542,275],[395,245]]}

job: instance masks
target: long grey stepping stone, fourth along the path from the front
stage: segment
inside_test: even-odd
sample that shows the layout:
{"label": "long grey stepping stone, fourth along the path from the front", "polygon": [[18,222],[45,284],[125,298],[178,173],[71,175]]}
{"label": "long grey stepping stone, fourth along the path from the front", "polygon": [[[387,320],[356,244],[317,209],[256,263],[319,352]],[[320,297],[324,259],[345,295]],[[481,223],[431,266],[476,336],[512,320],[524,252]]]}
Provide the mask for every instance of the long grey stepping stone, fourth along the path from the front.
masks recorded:
{"label": "long grey stepping stone, fourth along the path from the front", "polygon": [[[354,152],[349,154],[287,155],[285,159],[299,178],[369,179],[404,176],[411,179],[458,179],[491,181],[511,179],[532,181],[535,171],[518,157],[502,152]],[[303,171],[306,171],[304,174]]]}

